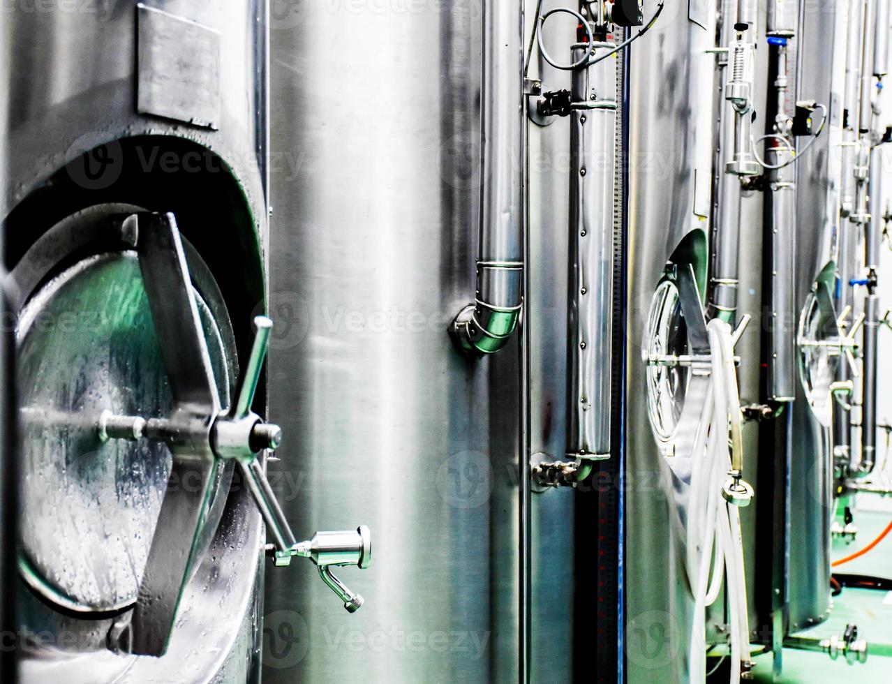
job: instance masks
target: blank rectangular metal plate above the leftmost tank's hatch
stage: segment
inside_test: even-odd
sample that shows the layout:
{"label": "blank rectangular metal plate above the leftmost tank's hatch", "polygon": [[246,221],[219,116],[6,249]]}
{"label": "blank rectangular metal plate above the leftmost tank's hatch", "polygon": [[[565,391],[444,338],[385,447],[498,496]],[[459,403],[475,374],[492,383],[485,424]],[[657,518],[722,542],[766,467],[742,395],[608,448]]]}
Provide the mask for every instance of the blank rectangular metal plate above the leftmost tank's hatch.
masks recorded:
{"label": "blank rectangular metal plate above the leftmost tank's hatch", "polygon": [[219,32],[144,4],[136,12],[139,113],[219,128]]}

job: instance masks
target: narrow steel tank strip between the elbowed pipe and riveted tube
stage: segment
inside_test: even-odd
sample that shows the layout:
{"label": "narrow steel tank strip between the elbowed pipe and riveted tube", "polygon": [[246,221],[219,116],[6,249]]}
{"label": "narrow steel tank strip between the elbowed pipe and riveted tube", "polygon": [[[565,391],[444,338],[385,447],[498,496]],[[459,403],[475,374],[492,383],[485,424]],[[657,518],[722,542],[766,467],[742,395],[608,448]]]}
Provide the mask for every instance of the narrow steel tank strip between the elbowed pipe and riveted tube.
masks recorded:
{"label": "narrow steel tank strip between the elbowed pipe and riveted tube", "polygon": [[[561,6],[543,0],[541,12]],[[533,30],[535,2],[527,2],[527,32]],[[562,14],[549,18],[542,39],[549,54],[569,61],[576,21]],[[557,70],[533,48],[529,76],[542,80],[543,90],[570,88],[570,73]],[[534,98],[533,98],[534,99]],[[548,126],[529,124],[529,292],[524,297],[524,340],[529,362],[530,454],[560,460],[566,450],[567,283],[570,253],[569,117],[551,117]],[[531,644],[574,642],[575,584],[574,504],[576,490],[561,488],[532,495],[530,501],[530,641]],[[572,583],[571,583],[572,582]],[[573,659],[533,652],[532,681],[571,681]]]}

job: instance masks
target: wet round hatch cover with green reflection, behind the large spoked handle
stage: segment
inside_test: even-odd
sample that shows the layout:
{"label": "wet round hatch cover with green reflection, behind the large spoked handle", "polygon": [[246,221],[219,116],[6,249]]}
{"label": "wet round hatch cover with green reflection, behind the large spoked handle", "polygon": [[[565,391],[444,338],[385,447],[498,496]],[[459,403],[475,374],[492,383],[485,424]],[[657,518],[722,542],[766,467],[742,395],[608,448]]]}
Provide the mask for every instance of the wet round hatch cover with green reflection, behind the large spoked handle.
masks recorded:
{"label": "wet round hatch cover with green reflection, behind the large spoked handle", "polygon": [[[196,261],[190,254],[193,272],[207,269]],[[227,406],[235,342],[217,297],[216,287],[195,291]],[[97,431],[104,410],[162,417],[172,406],[164,341],[154,334],[136,252],[95,253],[45,280],[22,307],[16,336],[22,576],[70,610],[122,609],[136,601],[164,492],[190,486],[168,482],[171,456],[162,442],[101,441]],[[231,475],[231,467],[219,468],[211,488],[209,541]]]}

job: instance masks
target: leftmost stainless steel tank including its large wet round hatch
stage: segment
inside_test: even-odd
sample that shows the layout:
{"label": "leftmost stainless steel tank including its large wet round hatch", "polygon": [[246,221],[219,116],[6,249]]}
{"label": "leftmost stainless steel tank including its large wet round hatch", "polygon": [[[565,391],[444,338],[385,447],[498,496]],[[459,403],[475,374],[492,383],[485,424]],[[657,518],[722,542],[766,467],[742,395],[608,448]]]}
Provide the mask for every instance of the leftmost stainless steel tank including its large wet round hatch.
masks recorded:
{"label": "leftmost stainless steel tank including its large wet round hatch", "polygon": [[[226,407],[265,309],[267,9],[91,7],[3,16],[19,675],[256,680],[263,528],[248,489],[214,459],[183,466],[174,434],[173,466],[165,444],[132,438],[163,432],[171,406]],[[117,439],[113,414],[136,413],[149,420]]]}

